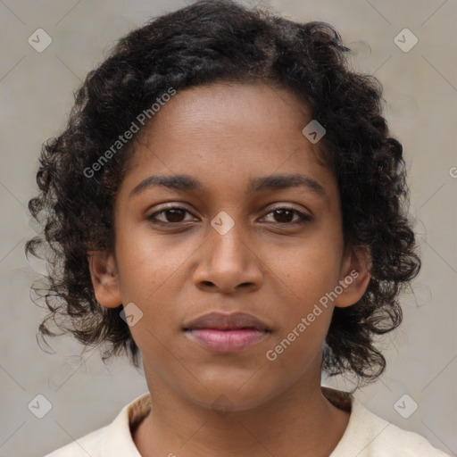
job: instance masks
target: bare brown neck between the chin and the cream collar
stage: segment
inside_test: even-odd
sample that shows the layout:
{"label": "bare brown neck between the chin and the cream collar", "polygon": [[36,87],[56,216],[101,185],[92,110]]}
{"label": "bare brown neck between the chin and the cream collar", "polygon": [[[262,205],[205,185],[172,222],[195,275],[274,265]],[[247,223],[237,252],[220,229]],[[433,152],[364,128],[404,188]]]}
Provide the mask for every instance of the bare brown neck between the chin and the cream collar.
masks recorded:
{"label": "bare brown neck between the chin and the cream collar", "polygon": [[245,411],[215,411],[179,395],[158,377],[146,378],[153,408],[133,436],[143,457],[328,457],[349,421],[349,412],[323,395],[320,376]]}

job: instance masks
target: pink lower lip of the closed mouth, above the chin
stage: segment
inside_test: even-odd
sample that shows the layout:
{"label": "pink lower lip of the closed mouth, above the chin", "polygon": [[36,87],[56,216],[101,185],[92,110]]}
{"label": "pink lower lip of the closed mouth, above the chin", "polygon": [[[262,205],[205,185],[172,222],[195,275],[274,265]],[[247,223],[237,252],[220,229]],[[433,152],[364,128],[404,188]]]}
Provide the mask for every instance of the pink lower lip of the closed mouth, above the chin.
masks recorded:
{"label": "pink lower lip of the closed mouth, above the chin", "polygon": [[199,328],[188,330],[187,334],[193,337],[197,343],[200,343],[213,352],[237,353],[259,343],[259,341],[268,335],[268,332],[253,328],[240,330]]}

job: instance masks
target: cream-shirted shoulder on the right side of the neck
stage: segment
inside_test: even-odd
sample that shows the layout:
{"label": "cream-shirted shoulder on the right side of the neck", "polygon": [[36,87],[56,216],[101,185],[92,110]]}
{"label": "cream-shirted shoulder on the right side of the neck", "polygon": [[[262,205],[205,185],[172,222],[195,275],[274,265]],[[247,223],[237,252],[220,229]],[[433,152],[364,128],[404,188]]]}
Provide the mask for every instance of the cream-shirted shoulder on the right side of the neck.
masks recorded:
{"label": "cream-shirted shoulder on the right side of the neck", "polygon": [[330,457],[449,457],[417,433],[388,422],[353,399],[345,434]]}

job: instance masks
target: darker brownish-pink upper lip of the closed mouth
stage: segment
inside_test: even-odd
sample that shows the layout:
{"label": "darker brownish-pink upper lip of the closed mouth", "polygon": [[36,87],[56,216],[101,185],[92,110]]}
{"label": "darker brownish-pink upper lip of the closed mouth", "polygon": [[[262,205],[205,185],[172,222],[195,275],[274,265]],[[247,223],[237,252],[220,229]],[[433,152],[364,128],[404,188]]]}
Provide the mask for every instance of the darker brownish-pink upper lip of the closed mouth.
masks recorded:
{"label": "darker brownish-pink upper lip of the closed mouth", "polygon": [[184,327],[185,330],[193,330],[195,328],[213,328],[216,330],[254,328],[270,331],[270,328],[265,323],[245,312],[233,312],[231,314],[224,312],[209,312],[195,320],[191,320]]}

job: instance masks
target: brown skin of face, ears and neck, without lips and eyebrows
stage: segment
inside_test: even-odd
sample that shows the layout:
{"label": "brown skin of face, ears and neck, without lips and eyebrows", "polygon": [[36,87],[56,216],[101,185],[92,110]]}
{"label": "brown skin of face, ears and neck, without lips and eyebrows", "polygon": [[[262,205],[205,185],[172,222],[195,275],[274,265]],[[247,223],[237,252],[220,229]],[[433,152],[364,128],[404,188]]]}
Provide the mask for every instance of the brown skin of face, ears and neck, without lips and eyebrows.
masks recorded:
{"label": "brown skin of face, ears and neck, without lips and eyebrows", "polygon": [[[320,389],[321,347],[335,306],[356,303],[370,280],[370,259],[343,243],[337,181],[303,136],[311,120],[285,89],[216,83],[180,91],[137,141],[115,203],[115,255],[93,253],[96,298],[106,307],[135,303],[130,327],[143,354],[153,410],[133,436],[141,455],[328,456],[349,413]],[[306,187],[249,191],[250,179],[300,173]],[[187,174],[202,190],[132,189],[150,175]],[[172,204],[187,212],[154,212]],[[298,213],[312,220],[301,224]],[[227,212],[225,235],[211,221]],[[167,225],[168,224],[168,225]],[[320,297],[352,270],[358,278],[278,355]],[[213,353],[184,325],[207,312],[248,312],[272,329],[241,352]],[[212,403],[224,395],[230,411]]]}

